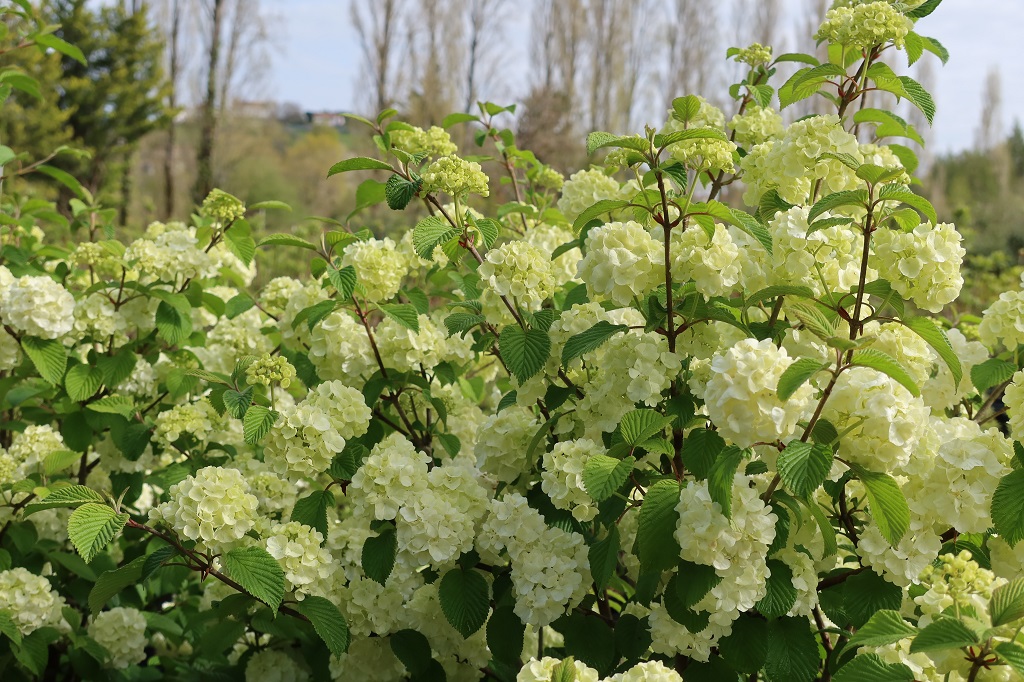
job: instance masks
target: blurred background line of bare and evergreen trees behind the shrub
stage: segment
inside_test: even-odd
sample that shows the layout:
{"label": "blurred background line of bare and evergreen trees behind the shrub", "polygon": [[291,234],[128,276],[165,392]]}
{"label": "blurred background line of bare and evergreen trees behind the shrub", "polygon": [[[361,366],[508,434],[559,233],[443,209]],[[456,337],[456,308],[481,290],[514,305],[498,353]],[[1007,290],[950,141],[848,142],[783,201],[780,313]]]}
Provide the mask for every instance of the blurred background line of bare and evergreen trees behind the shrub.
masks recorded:
{"label": "blurred background line of bare and evergreen trees behind the shrub", "polygon": [[[361,97],[351,109],[372,116],[394,108],[403,120],[426,127],[452,112],[475,113],[478,100],[516,101],[516,116],[502,125],[516,133],[520,147],[569,173],[588,163],[587,132],[658,125],[673,97],[724,93],[738,75],[723,58],[728,45],[760,42],[773,45],[776,54],[815,52],[810,36],[829,3],[801,2],[794,25],[781,0],[534,0],[527,82],[520,86],[524,91],[513,91],[503,71],[504,26],[511,12],[521,11],[518,3],[349,0]],[[374,150],[362,130],[350,134],[339,112],[307,113],[274,100],[267,80],[281,38],[272,30],[280,17],[270,3],[36,4],[61,25],[58,35],[82,49],[88,67],[55,52],[18,51],[18,67],[59,86],[44,88],[39,98],[17,93],[8,101],[0,141],[36,158],[61,144],[87,152],[52,163],[116,208],[126,236],[152,220],[186,218],[213,186],[247,202],[278,199],[294,208],[268,214],[264,232],[309,236],[321,225],[306,216],[346,219],[355,187],[347,178],[327,180],[326,170],[345,156]],[[651,27],[646,41],[621,38]],[[0,61],[13,58],[0,54]],[[931,88],[935,68],[922,59],[912,76]],[[731,116],[729,101],[715,103]],[[784,114],[796,119],[818,113],[812,108],[822,103],[804,100]],[[974,148],[934,158],[927,147],[918,150],[918,190],[964,232],[969,252],[977,254],[976,270],[1005,279],[1016,276],[1024,249],[1024,134],[1019,124],[1009,132],[1001,128],[998,72],[988,76],[983,104]],[[930,141],[920,115],[904,113]],[[468,126],[452,133],[465,154],[493,152],[475,151]],[[37,178],[32,189],[50,196],[61,190],[46,180]],[[505,188],[495,189],[493,204],[508,201]],[[360,213],[354,226],[388,233],[410,219],[375,209]],[[272,265],[268,275],[278,269]],[[976,286],[987,290],[986,282],[980,278]]]}

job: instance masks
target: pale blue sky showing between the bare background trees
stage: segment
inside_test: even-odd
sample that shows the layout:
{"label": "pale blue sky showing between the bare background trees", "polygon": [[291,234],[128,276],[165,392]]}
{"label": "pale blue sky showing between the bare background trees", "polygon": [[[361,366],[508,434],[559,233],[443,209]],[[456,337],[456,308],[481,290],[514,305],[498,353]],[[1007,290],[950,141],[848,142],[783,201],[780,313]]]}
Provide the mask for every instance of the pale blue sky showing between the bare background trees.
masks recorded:
{"label": "pale blue sky showing between the bare background trees", "polygon": [[[513,1],[518,6],[529,5],[529,0]],[[348,1],[264,2],[273,5],[280,36],[267,88],[270,98],[296,102],[304,111],[354,109],[359,87],[359,46],[349,20]],[[788,9],[785,25],[794,26],[803,3],[783,2]],[[521,98],[526,91],[528,26],[527,12],[519,10],[512,12],[505,25],[508,45],[504,68],[510,101]],[[1024,40],[1024,0],[945,0],[935,13],[919,23],[918,31],[939,40],[950,53],[946,66],[935,61],[936,87],[932,94],[938,113],[933,154],[971,146],[990,68],[1002,65],[1004,131],[1009,133],[1015,120],[1024,121],[1024,77],[1012,69]],[[723,52],[726,45],[736,42],[732,38],[725,36]],[[902,53],[899,58],[904,58]],[[923,58],[935,57],[926,53]]]}

